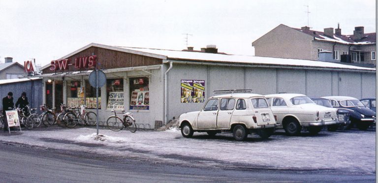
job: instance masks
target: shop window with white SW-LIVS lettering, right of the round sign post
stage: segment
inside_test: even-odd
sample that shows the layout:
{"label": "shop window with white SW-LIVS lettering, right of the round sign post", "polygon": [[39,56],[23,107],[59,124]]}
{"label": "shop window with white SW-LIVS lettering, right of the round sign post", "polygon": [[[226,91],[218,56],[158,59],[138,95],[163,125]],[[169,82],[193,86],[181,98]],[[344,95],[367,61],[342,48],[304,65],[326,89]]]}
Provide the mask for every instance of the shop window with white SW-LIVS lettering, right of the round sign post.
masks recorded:
{"label": "shop window with white SW-LIVS lettering, right of the round sign post", "polygon": [[114,109],[117,111],[124,110],[124,79],[107,79],[106,80],[106,110]]}

